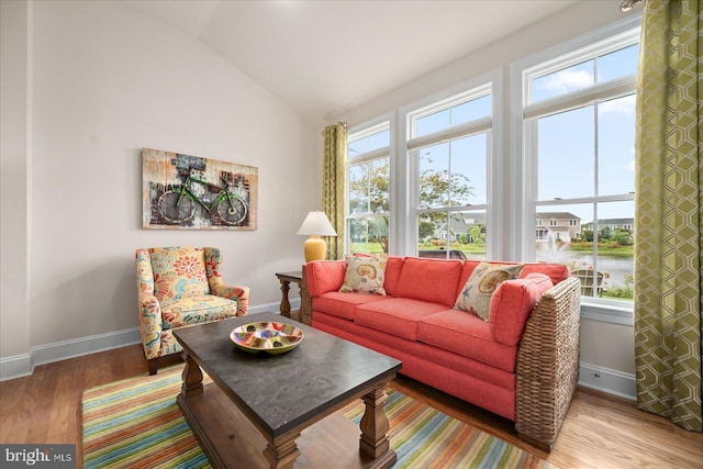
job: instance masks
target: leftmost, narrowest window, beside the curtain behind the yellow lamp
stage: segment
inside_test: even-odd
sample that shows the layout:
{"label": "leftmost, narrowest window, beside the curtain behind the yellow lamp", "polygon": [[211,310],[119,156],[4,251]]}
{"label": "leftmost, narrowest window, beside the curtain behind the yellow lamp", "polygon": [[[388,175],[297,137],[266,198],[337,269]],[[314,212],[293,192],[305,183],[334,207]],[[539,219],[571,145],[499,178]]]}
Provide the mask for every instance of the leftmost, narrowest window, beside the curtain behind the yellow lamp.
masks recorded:
{"label": "leftmost, narrowest window, beside the curtain behind the yellow lamp", "polygon": [[350,131],[347,138],[347,253],[388,254],[390,183],[390,122]]}

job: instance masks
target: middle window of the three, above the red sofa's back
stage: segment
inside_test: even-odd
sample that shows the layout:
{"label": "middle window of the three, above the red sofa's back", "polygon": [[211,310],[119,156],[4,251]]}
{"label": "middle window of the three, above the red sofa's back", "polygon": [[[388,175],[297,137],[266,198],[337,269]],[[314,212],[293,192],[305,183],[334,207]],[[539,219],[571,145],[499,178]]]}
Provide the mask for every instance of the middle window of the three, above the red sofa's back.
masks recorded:
{"label": "middle window of the three, above the red sofa's back", "polygon": [[493,86],[472,87],[406,114],[421,257],[487,258]]}

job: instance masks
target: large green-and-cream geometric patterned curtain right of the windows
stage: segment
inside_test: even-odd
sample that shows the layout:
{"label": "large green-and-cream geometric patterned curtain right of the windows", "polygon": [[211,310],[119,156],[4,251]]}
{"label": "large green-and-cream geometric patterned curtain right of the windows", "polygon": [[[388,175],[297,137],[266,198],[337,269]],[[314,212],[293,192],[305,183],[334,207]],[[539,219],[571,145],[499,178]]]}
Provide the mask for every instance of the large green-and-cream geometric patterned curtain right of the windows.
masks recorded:
{"label": "large green-and-cream geometric patterned curtain right of the windows", "polygon": [[647,0],[637,77],[637,405],[703,431],[703,27],[699,0]]}

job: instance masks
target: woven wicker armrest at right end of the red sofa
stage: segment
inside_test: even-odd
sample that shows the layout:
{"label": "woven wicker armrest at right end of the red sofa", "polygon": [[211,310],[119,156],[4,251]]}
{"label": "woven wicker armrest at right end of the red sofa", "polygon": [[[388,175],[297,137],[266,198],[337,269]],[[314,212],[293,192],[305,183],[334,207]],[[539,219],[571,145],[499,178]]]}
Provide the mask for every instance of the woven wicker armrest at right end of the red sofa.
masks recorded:
{"label": "woven wicker armrest at right end of the red sofa", "polygon": [[551,450],[579,381],[580,282],[570,277],[545,292],[520,342],[515,429]]}

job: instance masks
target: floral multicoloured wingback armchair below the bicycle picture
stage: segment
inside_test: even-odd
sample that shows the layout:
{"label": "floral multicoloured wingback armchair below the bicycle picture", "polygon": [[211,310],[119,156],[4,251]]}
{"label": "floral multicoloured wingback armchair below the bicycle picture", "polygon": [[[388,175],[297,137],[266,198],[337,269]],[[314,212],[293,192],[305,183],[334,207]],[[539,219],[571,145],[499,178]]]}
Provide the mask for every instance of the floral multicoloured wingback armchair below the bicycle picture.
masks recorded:
{"label": "floral multicoloured wingback armchair below the bicycle picture", "polygon": [[159,358],[182,350],[174,330],[243,316],[247,287],[223,284],[222,253],[214,247],[154,247],[136,250],[140,332],[149,375]]}

